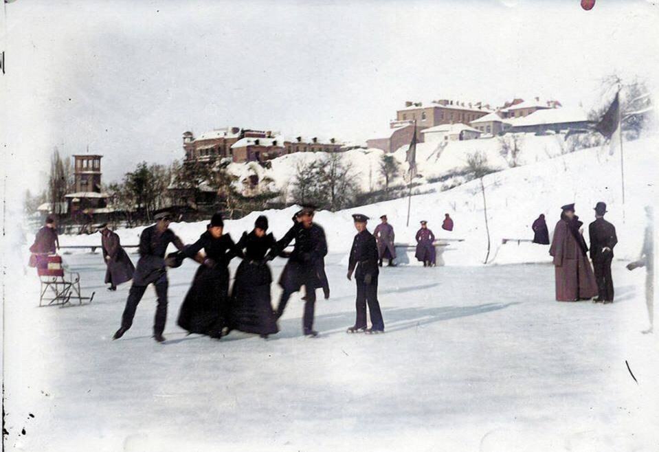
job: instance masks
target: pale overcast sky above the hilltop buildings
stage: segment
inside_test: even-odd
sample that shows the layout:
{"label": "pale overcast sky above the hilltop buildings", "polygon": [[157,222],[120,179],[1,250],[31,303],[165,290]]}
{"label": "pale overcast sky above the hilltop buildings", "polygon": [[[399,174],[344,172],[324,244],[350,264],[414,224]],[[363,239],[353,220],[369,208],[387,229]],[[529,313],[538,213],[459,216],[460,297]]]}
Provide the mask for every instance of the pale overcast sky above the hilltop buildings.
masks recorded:
{"label": "pale overcast sky above the hilltop buildings", "polygon": [[[589,107],[598,80],[656,76],[649,1],[27,1],[5,5],[3,120],[34,181],[53,146],[105,183],[236,125],[366,139],[405,100]],[[24,172],[23,172],[24,170]],[[41,173],[43,176],[43,172]]]}

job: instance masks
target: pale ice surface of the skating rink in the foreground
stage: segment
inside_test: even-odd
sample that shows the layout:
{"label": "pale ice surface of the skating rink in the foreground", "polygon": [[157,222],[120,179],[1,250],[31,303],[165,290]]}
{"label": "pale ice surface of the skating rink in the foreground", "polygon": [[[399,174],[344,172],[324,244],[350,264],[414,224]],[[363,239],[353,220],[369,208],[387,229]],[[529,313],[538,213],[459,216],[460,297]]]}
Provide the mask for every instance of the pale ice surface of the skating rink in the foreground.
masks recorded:
{"label": "pale ice surface of the skating rink in the foreground", "polygon": [[[328,256],[317,339],[295,296],[278,335],[221,341],[175,325],[194,267],[170,271],[165,335],[155,293],[119,341],[129,286],[104,289],[100,253],[65,256],[92,304],[37,308],[27,269],[6,299],[5,445],[23,451],[656,450],[657,340],[643,270],[614,264],[616,302],[553,301],[546,264],[385,268],[386,334],[347,335],[354,283]],[[232,263],[232,274],[237,262]],[[282,260],[273,263],[278,275]],[[273,285],[273,299],[279,294]],[[625,365],[629,363],[638,384]],[[33,415],[34,417],[31,417]],[[25,429],[25,433],[21,430]]]}

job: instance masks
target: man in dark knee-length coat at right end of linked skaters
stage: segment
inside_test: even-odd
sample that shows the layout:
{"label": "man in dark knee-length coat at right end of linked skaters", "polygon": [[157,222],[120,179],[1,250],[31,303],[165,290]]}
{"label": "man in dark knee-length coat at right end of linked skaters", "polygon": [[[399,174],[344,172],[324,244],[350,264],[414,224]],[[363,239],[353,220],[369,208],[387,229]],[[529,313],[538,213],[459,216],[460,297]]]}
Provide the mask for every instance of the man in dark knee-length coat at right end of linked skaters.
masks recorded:
{"label": "man in dark knee-length coat at right end of linked skaters", "polygon": [[[305,207],[298,212],[296,219],[298,223],[279,240],[276,246],[268,253],[268,259],[278,256],[291,241],[295,240],[293,251],[289,255],[289,261],[279,278],[282,286],[282,295],[277,306],[277,318],[281,317],[291,295],[300,290],[302,286],[306,289],[306,300],[304,301],[304,316],[302,317],[302,330],[304,335],[317,336],[313,330],[313,312],[315,308],[315,289],[323,286],[324,282],[320,275],[320,267],[323,258],[327,254],[327,241],[325,231],[319,225],[313,223],[313,207]],[[323,269],[324,273],[324,269]]]}

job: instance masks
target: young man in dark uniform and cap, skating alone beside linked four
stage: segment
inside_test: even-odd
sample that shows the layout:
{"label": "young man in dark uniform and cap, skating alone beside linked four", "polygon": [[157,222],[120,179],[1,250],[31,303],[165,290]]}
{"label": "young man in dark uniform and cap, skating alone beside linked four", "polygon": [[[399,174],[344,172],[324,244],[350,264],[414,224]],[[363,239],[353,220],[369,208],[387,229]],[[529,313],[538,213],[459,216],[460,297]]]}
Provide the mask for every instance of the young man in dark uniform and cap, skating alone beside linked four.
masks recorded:
{"label": "young man in dark uniform and cap, skating alone beside linked four", "polygon": [[[357,283],[357,319],[355,325],[348,328],[348,332],[377,333],[384,331],[384,321],[377,301],[377,278],[378,278],[378,252],[375,237],[366,229],[368,216],[354,214],[355,229],[357,235],[353,239],[353,247],[350,249],[350,260],[348,261],[348,280],[355,272]],[[371,328],[366,328],[366,304],[370,312]]]}

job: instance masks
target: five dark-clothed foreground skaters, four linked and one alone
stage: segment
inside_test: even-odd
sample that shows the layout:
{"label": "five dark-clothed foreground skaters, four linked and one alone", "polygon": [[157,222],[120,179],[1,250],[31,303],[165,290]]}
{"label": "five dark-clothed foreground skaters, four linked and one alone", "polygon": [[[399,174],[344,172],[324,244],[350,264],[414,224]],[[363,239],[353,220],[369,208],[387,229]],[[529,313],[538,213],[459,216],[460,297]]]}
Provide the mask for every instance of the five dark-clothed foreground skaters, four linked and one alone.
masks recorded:
{"label": "five dark-clothed foreground skaters, four linked and one alone", "polygon": [[[237,243],[230,234],[224,233],[221,214],[215,214],[199,240],[188,246],[183,245],[181,239],[169,229],[172,221],[170,214],[158,214],[156,224],[144,229],[139,238],[140,257],[121,326],[113,339],[119,339],[131,328],[137,304],[146,287],[154,284],[157,308],[153,337],[158,342],[165,340],[163,332],[168,289],[166,269],[179,267],[186,258],[196,260],[200,265],[181,304],[177,321],[181,328],[216,339],[232,330],[256,333],[266,338],[278,332],[277,320],[284,313],[289,298],[304,286],[302,329],[306,336],[317,336],[317,331],[313,329],[315,291],[323,289],[325,298],[328,298],[329,285],[324,269],[327,242],[322,227],[313,222],[314,213],[313,207],[304,207],[297,212],[293,216],[293,226],[280,240],[268,233],[267,218],[259,216],[254,229],[243,233]],[[348,279],[352,278],[354,272],[357,282],[357,316],[355,325],[348,328],[348,332],[383,332],[384,323],[377,300],[379,255],[375,237],[366,229],[368,217],[361,214],[353,217],[358,234],[350,252]],[[286,248],[293,240],[293,250],[287,252]],[[178,251],[165,256],[170,243]],[[273,310],[270,293],[272,274],[267,262],[277,256],[288,260],[279,279],[282,294],[277,308]],[[230,288],[228,267],[233,258],[241,258],[242,262],[238,265],[234,284]],[[109,272],[110,267],[109,263]],[[372,328],[366,325],[367,304]]]}

